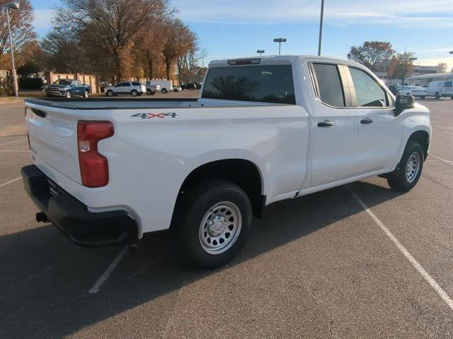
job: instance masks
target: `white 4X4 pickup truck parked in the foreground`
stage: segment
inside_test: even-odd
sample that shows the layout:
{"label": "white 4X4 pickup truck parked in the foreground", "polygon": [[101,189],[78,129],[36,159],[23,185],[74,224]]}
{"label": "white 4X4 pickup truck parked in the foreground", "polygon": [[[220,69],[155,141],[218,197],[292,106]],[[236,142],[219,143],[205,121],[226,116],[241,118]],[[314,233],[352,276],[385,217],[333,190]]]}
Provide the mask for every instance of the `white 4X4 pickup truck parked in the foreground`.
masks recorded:
{"label": "white 4X4 pickup truck parked in the foreground", "polygon": [[25,190],[77,244],[170,229],[206,268],[243,246],[253,215],[374,175],[408,191],[430,114],[368,69],[311,56],[212,61],[199,99],[27,99]]}

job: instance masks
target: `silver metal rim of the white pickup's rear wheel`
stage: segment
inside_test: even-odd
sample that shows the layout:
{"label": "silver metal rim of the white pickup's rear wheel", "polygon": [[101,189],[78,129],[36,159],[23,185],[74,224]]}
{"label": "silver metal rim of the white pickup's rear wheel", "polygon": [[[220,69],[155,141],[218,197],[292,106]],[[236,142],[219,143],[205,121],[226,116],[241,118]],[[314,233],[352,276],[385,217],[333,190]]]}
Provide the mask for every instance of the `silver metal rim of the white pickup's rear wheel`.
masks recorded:
{"label": "silver metal rim of the white pickup's rear wheel", "polygon": [[231,201],[212,206],[200,224],[200,244],[209,254],[221,254],[233,246],[241,233],[241,210]]}

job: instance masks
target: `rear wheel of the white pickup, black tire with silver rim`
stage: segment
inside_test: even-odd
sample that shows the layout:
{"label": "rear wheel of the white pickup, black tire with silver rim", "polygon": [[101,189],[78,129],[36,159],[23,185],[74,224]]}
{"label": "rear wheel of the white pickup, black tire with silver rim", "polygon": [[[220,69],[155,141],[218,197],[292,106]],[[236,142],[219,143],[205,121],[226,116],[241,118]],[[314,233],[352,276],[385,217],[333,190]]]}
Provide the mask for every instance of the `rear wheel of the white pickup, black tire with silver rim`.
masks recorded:
{"label": "rear wheel of the white pickup, black tire with silver rim", "polygon": [[175,248],[202,268],[228,263],[246,242],[252,222],[246,192],[231,182],[209,180],[186,194],[171,226]]}

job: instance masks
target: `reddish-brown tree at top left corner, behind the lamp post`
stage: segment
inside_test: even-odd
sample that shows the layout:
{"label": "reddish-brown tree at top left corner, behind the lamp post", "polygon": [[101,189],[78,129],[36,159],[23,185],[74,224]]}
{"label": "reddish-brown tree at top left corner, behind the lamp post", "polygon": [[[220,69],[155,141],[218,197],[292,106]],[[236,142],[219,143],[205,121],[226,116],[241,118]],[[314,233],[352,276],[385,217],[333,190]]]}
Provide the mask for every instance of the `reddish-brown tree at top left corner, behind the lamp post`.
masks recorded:
{"label": "reddish-brown tree at top left corner, behind the lamp post", "polygon": [[[0,0],[0,8],[8,0]],[[14,52],[20,61],[21,53],[36,40],[36,33],[33,31],[33,8],[28,0],[17,0],[21,9],[19,11],[9,11],[11,36],[14,41]],[[8,23],[6,13],[0,11],[0,69],[9,67],[10,46],[8,37]],[[19,62],[20,64],[20,62]]]}

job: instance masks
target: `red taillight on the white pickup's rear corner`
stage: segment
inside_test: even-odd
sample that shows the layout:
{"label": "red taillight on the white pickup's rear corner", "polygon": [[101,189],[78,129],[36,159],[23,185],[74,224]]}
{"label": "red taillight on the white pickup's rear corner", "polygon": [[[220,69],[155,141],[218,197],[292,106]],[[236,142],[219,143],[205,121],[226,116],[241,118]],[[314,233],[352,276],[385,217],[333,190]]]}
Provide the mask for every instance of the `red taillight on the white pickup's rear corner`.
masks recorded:
{"label": "red taillight on the white pickup's rear corner", "polygon": [[77,146],[82,184],[86,187],[103,187],[108,184],[108,160],[98,153],[98,141],[115,133],[110,121],[79,121]]}

